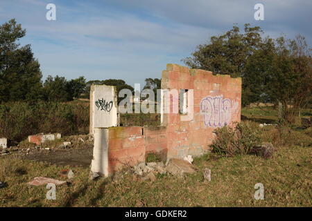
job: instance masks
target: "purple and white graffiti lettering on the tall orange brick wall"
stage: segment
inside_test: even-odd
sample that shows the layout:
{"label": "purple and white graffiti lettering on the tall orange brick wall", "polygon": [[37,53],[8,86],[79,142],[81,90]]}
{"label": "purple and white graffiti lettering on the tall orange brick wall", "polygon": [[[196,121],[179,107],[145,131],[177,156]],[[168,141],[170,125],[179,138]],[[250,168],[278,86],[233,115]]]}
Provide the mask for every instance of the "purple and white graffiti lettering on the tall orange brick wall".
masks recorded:
{"label": "purple and white graffiti lettering on the tall orange brick wall", "polygon": [[232,117],[239,113],[239,102],[223,99],[223,95],[205,97],[200,102],[200,113],[209,127],[221,127],[231,123]]}

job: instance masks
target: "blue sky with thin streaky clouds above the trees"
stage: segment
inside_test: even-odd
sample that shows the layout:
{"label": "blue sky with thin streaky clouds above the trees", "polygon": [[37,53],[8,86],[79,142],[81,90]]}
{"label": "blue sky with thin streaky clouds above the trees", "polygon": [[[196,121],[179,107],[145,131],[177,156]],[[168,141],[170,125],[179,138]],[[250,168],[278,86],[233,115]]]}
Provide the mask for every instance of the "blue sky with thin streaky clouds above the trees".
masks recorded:
{"label": "blue sky with thin streaky clouds above the trees", "polygon": [[[46,19],[48,3],[56,20]],[[254,19],[254,5],[264,20]],[[0,0],[0,24],[15,18],[26,28],[43,80],[123,79],[131,86],[160,78],[166,64],[181,64],[199,44],[235,24],[260,26],[266,35],[312,45],[311,0]]]}

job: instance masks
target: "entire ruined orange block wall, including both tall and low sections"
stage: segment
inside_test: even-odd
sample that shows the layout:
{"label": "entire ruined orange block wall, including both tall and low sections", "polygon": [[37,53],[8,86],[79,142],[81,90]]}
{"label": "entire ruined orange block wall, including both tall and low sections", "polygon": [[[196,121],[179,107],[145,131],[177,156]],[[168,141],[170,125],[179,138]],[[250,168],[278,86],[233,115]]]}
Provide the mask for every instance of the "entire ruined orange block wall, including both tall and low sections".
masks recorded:
{"label": "entire ruined orange block wall, including both tall and low sections", "polygon": [[[241,121],[241,78],[168,64],[162,89],[193,89],[193,119],[182,121],[180,113],[164,113],[159,127],[109,128],[110,173],[144,161],[147,153],[167,158],[201,155],[214,139],[214,129]],[[172,110],[172,99],[169,106]]]}

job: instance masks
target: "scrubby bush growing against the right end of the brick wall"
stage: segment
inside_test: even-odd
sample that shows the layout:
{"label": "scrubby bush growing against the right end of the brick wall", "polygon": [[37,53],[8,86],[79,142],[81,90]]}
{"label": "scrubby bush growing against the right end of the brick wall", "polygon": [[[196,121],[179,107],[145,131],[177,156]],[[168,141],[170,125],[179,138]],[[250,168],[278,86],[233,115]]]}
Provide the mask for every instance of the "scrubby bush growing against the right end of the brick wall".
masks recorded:
{"label": "scrubby bush growing against the right end of the brick wall", "polygon": [[216,139],[210,145],[214,153],[231,157],[248,154],[261,144],[261,129],[251,122],[237,123],[234,128],[223,126],[214,131]]}

